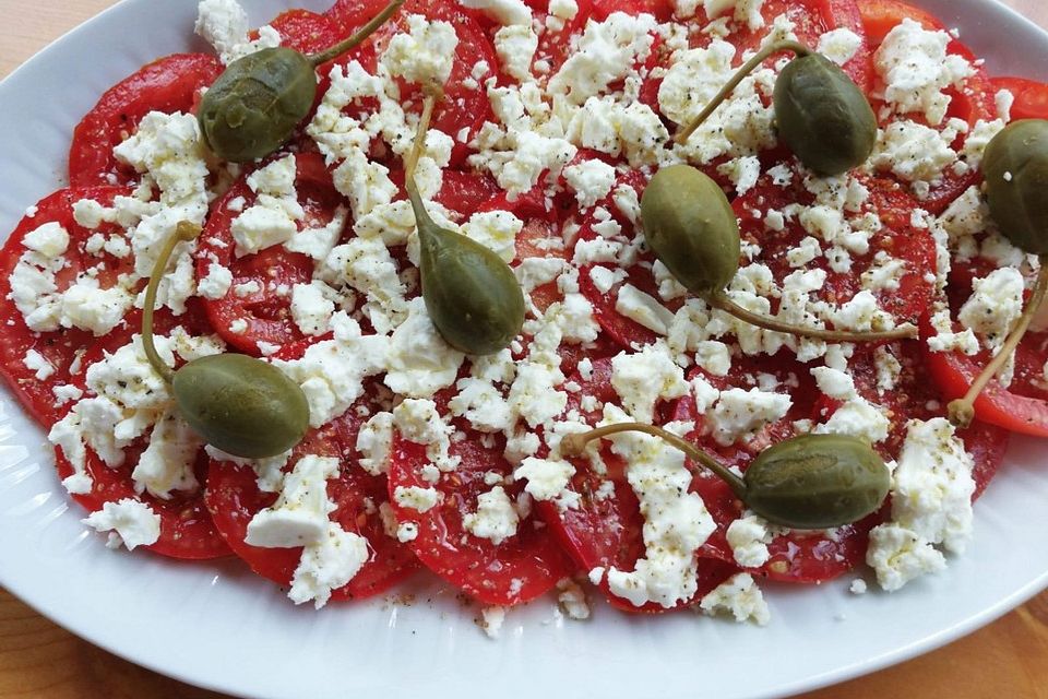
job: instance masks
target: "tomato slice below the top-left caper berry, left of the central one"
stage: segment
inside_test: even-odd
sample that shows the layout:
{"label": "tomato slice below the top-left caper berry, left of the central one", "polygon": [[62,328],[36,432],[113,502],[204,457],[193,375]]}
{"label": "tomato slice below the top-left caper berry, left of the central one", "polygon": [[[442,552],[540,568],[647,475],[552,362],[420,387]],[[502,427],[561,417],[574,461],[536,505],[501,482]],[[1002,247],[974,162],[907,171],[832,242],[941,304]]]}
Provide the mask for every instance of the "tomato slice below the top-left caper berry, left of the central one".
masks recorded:
{"label": "tomato slice below the top-left caper berry, left of the central one", "polygon": [[[298,176],[295,181],[298,200],[306,210],[299,230],[320,227],[334,218],[342,205],[342,194],[335,190],[331,174],[318,153],[299,153],[296,157]],[[196,249],[196,274],[204,277],[213,261],[233,272],[233,286],[219,299],[205,299],[207,315],[215,332],[234,347],[248,354],[259,354],[259,342],[283,346],[302,339],[302,333],[290,315],[290,291],[295,284],[308,284],[313,277],[313,260],[290,252],[284,246],[273,246],[254,254],[235,257],[236,244],[230,226],[239,211],[229,209],[229,202],[243,198],[252,205],[255,194],[248,187],[247,176],[238,180],[225,197],[212,206],[207,224]],[[240,296],[238,284],[258,283],[260,291]],[[230,325],[242,319],[247,329],[234,332]]]}

